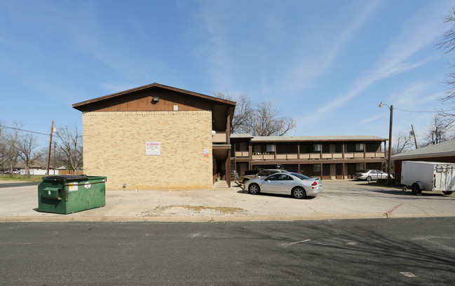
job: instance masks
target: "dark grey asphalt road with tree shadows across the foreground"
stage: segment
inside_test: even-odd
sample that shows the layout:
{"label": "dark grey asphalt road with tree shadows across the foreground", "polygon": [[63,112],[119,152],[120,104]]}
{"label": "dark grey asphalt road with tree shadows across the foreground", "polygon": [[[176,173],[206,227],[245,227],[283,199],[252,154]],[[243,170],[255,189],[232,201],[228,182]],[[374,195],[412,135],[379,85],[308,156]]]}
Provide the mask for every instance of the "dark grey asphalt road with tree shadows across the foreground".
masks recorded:
{"label": "dark grey asphalt road with tree shadows across the foreground", "polygon": [[455,285],[455,218],[1,223],[0,285]]}

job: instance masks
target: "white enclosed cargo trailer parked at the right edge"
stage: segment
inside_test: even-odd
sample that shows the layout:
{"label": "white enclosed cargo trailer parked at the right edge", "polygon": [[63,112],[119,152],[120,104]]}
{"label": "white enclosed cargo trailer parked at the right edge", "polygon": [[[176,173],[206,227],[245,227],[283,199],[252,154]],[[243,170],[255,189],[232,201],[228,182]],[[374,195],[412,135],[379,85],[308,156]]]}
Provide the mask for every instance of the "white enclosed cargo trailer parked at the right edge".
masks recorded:
{"label": "white enclosed cargo trailer parked at the right edge", "polygon": [[455,189],[455,164],[424,161],[403,161],[401,165],[403,191],[411,187],[416,195],[421,191],[442,191],[450,195]]}

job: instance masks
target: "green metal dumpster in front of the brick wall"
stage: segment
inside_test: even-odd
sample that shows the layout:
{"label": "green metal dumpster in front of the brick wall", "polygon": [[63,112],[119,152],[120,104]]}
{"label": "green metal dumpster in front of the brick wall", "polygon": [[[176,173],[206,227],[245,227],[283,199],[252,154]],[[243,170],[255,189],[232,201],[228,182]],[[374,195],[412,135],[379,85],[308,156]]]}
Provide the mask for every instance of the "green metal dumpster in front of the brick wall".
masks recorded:
{"label": "green metal dumpster in front of the brick wall", "polygon": [[38,211],[70,214],[106,205],[106,177],[59,175],[43,177]]}

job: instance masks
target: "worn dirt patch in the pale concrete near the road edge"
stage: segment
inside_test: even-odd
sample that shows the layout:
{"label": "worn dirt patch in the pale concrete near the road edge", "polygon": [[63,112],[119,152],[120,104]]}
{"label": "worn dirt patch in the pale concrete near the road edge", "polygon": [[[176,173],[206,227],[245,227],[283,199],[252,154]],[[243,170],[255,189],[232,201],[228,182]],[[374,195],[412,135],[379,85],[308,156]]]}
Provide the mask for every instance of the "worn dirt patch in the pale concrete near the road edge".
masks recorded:
{"label": "worn dirt patch in the pale concrete near the road edge", "polygon": [[206,207],[202,205],[167,205],[158,206],[154,210],[142,212],[140,215],[149,217],[193,217],[193,216],[233,216],[247,214],[240,207]]}

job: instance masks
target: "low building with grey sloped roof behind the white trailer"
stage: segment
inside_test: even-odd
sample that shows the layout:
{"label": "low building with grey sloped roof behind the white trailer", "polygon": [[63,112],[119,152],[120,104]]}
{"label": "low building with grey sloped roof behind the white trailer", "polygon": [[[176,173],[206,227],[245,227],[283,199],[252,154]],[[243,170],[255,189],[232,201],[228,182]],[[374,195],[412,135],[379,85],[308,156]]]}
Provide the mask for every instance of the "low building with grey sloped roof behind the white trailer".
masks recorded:
{"label": "low building with grey sloped roof behind the white trailer", "polygon": [[395,165],[396,181],[400,182],[402,161],[455,163],[455,140],[395,154],[392,160]]}

